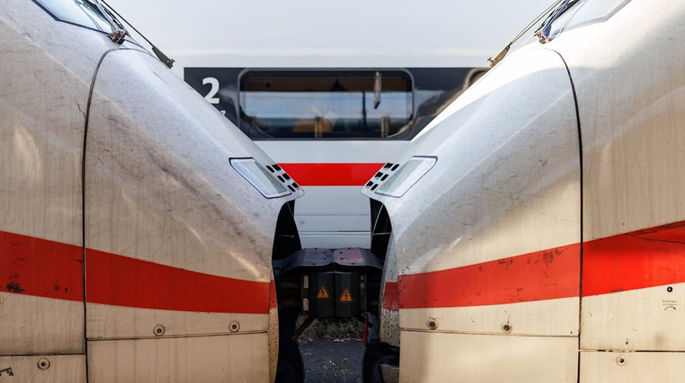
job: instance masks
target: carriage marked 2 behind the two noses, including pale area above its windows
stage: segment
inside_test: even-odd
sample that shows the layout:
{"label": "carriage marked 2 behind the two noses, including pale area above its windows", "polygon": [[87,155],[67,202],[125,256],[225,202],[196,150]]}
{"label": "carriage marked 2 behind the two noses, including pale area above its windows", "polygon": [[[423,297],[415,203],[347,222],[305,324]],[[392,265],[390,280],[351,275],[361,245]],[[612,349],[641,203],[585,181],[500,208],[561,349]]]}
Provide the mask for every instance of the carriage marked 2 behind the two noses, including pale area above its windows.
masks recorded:
{"label": "carriage marked 2 behind the two noses, including pale area above its windows", "polygon": [[360,187],[549,2],[112,5],[306,187],[295,210],[303,246],[369,248]]}

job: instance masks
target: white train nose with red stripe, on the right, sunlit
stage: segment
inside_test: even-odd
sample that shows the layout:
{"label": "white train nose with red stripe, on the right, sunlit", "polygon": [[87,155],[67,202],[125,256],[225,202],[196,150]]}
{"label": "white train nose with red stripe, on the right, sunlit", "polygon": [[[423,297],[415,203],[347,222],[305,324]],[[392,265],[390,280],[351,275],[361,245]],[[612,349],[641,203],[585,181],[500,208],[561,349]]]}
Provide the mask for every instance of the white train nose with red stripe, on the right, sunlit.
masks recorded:
{"label": "white train nose with red stripe, on the right, sunlit", "polygon": [[555,29],[364,187],[392,226],[386,381],[682,381],[685,4],[579,1]]}

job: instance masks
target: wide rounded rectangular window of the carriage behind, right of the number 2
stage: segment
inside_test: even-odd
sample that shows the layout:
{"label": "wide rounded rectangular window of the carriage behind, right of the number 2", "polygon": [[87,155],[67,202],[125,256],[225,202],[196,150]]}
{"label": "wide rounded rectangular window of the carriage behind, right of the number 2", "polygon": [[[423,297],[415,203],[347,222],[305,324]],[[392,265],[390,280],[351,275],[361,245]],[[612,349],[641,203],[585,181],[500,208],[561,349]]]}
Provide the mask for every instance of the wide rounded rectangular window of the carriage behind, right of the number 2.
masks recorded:
{"label": "wide rounded rectangular window of the carriage behind, right of the number 2", "polygon": [[402,70],[250,70],[239,83],[238,120],[253,139],[383,139],[412,124]]}

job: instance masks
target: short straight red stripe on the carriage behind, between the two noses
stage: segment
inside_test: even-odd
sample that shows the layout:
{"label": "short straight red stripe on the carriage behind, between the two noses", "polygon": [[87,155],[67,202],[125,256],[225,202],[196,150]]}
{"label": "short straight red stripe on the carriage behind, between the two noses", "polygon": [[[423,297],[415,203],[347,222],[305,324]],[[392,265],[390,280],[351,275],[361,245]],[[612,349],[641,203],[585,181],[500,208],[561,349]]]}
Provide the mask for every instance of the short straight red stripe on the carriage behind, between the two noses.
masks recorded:
{"label": "short straight red stripe on the carriage behind, between the two noses", "polygon": [[279,163],[303,186],[362,186],[383,163]]}

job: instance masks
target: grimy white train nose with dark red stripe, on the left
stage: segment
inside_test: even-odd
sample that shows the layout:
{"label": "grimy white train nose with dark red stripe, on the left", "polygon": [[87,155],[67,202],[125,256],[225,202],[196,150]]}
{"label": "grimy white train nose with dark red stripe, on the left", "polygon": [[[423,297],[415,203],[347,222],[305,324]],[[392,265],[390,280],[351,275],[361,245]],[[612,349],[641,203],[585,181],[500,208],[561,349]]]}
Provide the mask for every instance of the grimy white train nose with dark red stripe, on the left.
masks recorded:
{"label": "grimy white train nose with dark red stripe, on the left", "polygon": [[273,160],[99,15],[0,5],[0,381],[273,381],[302,192],[260,194],[232,159]]}

